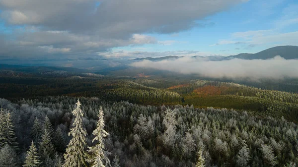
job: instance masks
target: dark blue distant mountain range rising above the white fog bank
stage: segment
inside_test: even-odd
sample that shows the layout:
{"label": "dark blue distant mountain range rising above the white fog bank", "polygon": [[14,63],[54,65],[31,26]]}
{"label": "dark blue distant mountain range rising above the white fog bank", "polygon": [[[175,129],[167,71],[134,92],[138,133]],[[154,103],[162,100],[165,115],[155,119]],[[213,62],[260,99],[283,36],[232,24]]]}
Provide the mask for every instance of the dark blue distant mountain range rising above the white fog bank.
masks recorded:
{"label": "dark blue distant mountain range rising above the white fog bank", "polygon": [[[273,58],[275,56],[281,56],[285,59],[296,59],[298,58],[298,46],[278,46],[266,49],[256,54],[238,54],[233,56],[192,56],[192,57],[201,57],[206,58],[211,61],[221,61],[233,58],[240,58],[240,59],[268,59]],[[135,61],[142,61],[142,60],[151,60],[151,61],[160,61],[165,59],[177,59],[183,56],[164,56],[164,57],[145,57],[145,58],[135,58],[132,60]]]}

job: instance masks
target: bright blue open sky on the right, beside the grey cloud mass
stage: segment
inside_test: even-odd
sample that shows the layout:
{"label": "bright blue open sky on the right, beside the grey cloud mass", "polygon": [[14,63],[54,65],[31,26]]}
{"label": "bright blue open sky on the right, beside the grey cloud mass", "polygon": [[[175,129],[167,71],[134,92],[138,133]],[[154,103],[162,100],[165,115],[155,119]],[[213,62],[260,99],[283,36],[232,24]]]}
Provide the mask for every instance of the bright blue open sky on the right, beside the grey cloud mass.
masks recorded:
{"label": "bright blue open sky on the right, beside the grey cloud mass", "polygon": [[[287,21],[289,21],[288,24]],[[204,56],[228,56],[239,53],[257,53],[279,45],[298,45],[298,42],[288,41],[283,38],[279,41],[264,41],[260,44],[254,44],[249,39],[233,37],[236,32],[245,33],[248,31],[251,31],[252,36],[255,34],[263,37],[297,32],[298,1],[296,0],[250,0],[210,15],[205,18],[204,22],[207,24],[205,27],[194,27],[175,34],[148,34],[158,41],[167,41],[168,44],[165,45],[147,44],[141,48],[139,46],[129,46],[114,48],[113,50],[200,51]],[[264,32],[258,34],[260,30],[264,30]],[[220,44],[221,41],[223,42],[222,45],[215,45]],[[239,44],[234,44],[232,41],[234,43],[239,42]]]}

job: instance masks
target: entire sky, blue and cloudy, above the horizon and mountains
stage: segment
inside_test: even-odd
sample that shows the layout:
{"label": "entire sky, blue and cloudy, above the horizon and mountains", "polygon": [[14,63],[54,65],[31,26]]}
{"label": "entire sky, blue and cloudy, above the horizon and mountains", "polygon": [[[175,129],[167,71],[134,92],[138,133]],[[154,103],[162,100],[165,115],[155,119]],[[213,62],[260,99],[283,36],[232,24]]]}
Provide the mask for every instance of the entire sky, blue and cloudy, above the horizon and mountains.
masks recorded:
{"label": "entire sky, blue and cloudy, above the horizon and mountains", "polygon": [[297,39],[297,0],[0,0],[0,60],[230,56]]}

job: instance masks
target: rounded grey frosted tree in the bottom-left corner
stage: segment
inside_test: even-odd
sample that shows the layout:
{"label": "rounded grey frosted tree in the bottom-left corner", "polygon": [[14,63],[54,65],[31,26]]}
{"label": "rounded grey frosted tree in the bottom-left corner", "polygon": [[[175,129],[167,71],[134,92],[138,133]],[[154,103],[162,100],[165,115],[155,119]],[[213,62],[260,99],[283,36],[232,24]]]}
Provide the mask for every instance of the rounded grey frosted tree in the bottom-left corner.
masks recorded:
{"label": "rounded grey frosted tree in the bottom-left corner", "polygon": [[18,167],[15,150],[8,144],[0,150],[0,167]]}

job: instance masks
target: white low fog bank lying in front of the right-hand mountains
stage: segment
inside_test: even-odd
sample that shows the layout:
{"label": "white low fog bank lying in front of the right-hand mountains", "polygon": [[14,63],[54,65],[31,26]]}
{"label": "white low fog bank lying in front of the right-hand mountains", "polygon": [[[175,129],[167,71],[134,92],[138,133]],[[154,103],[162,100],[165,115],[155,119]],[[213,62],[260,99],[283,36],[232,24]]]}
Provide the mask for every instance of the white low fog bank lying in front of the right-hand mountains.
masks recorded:
{"label": "white low fog bank lying in front of the right-hand mountains", "polygon": [[272,59],[230,59],[210,61],[206,58],[181,57],[175,60],[150,61],[143,60],[130,64],[134,67],[169,70],[183,74],[199,74],[211,78],[262,78],[283,79],[285,77],[298,78],[298,59],[284,59],[275,56]]}

